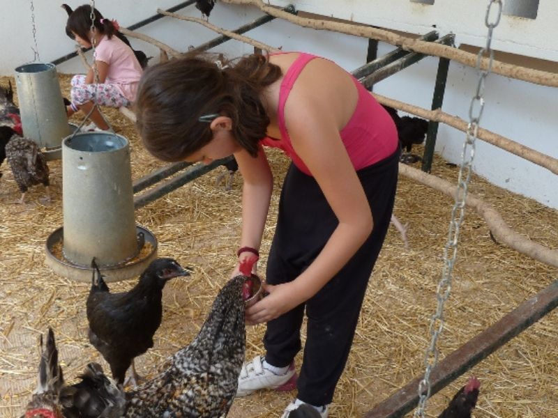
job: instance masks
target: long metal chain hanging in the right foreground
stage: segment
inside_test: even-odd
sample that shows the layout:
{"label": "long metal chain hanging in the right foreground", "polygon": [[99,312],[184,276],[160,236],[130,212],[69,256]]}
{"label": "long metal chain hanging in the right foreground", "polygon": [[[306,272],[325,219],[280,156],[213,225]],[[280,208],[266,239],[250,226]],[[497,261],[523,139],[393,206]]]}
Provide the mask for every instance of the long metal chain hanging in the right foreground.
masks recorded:
{"label": "long metal chain hanging in the right foreground", "polygon": [[[497,6],[495,10],[493,6]],[[455,264],[458,250],[458,238],[460,226],[465,217],[465,199],[467,198],[467,187],[471,178],[472,163],[475,154],[475,141],[478,133],[478,124],[481,121],[484,108],[484,86],[485,79],[492,70],[494,51],[490,49],[492,43],[492,31],[500,22],[502,16],[502,0],[490,0],[485,15],[485,26],[488,27],[486,46],[481,48],[476,59],[476,70],[480,72],[476,93],[469,106],[469,124],[467,125],[467,137],[463,143],[462,161],[459,170],[457,193],[455,194],[455,204],[451,210],[451,221],[449,224],[448,240],[444,247],[444,268],[442,269],[442,279],[440,279],[436,297],[437,307],[435,314],[430,318],[429,332],[432,337],[430,346],[426,349],[424,356],[425,373],[424,378],[418,384],[418,407],[414,411],[414,417],[425,417],[426,401],[430,397],[430,373],[438,362],[439,351],[437,341],[444,330],[444,304],[448,300],[451,291],[451,272]],[[488,66],[481,70],[483,56],[488,54]],[[469,153],[467,153],[469,150]]]}

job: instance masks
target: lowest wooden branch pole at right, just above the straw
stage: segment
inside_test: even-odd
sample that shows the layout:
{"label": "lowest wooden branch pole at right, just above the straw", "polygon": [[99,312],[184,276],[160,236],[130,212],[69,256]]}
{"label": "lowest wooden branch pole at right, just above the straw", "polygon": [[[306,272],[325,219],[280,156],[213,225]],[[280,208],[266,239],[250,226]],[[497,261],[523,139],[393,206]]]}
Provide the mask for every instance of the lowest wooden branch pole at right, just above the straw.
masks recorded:
{"label": "lowest wooden branch pole at right, just above the straw", "polygon": [[[455,197],[455,193],[457,193],[457,186],[452,185],[446,180],[442,180],[442,178],[432,176],[432,174],[414,169],[405,164],[399,164],[399,172],[403,176],[412,178],[418,183],[432,187],[448,196]],[[552,267],[558,267],[557,249],[550,249],[516,233],[506,224],[495,208],[492,208],[489,203],[479,199],[472,193],[467,193],[465,204],[473,208],[478,215],[483,217],[490,231],[492,231],[492,235],[494,235],[499,242],[519,251],[521,254],[541,261],[541,263],[552,265]]]}

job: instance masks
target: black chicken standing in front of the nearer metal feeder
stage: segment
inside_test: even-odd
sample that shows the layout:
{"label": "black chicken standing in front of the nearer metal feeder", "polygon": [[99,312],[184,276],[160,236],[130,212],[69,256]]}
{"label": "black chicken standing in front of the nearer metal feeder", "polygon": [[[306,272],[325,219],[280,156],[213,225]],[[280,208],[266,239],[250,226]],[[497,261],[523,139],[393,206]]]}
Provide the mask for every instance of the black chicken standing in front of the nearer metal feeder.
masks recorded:
{"label": "black chicken standing in front of the nearer metal feeder", "polygon": [[153,347],[153,335],[163,317],[163,288],[169,279],[188,276],[172,258],[157,258],[128,292],[110,293],[95,258],[93,279],[86,302],[89,341],[110,365],[112,377],[124,383],[132,366],[131,379],[137,385],[134,358]]}

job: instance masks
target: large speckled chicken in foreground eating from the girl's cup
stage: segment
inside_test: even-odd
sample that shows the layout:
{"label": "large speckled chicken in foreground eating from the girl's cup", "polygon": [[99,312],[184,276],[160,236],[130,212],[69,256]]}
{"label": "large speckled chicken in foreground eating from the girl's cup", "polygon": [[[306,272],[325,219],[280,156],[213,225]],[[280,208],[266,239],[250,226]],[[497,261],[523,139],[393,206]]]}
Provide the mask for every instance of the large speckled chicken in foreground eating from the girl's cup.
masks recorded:
{"label": "large speckled chicken in foreground eating from the girl's cup", "polygon": [[246,346],[241,274],[213,302],[194,341],[158,376],[128,392],[126,417],[225,417],[236,394]]}

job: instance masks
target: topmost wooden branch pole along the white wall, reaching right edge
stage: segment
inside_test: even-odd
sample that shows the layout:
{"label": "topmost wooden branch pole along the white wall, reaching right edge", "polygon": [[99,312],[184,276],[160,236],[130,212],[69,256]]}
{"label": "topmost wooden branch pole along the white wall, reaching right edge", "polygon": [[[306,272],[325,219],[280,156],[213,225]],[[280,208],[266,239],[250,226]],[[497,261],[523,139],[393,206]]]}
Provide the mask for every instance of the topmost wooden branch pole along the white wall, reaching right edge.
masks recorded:
{"label": "topmost wooden branch pole along the white wall, reaching right edge", "polygon": [[[425,42],[407,36],[401,36],[391,31],[384,29],[372,28],[370,26],[363,26],[361,24],[349,24],[344,22],[333,22],[331,20],[319,20],[308,17],[300,17],[286,13],[276,7],[266,5],[262,0],[220,0],[223,3],[255,6],[268,13],[271,16],[279,17],[280,19],[287,20],[299,26],[317,29],[329,30],[347,35],[360,36],[362,38],[372,38],[390,43],[391,45],[398,45],[407,51],[421,52],[422,54],[439,56],[441,58],[451,59],[458,63],[468,65],[469,67],[476,67],[476,54],[471,52],[462,51],[455,47],[448,45],[432,44],[432,42]],[[488,59],[481,60],[481,68],[485,70],[488,68]],[[492,61],[491,72],[510,77],[513,79],[522,80],[534,84],[541,84],[543,86],[558,87],[558,74],[555,72],[534,70],[532,68],[520,67],[504,63],[502,61]]]}

